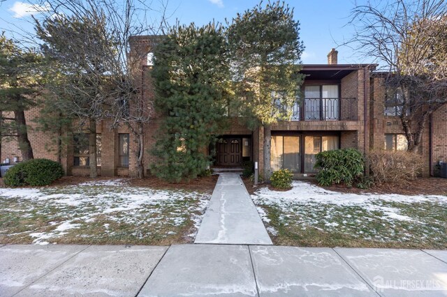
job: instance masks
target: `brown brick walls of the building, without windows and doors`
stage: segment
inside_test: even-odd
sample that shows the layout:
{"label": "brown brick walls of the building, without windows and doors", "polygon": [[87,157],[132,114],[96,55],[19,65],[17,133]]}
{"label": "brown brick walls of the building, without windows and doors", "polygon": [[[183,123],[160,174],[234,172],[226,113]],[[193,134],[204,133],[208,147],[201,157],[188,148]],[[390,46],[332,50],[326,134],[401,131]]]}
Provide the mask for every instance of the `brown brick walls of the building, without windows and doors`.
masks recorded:
{"label": "brown brick walls of the building, without windows and doors", "polygon": [[[151,39],[152,38],[152,39]],[[151,67],[147,65],[147,53],[153,45],[153,36],[136,36],[131,38],[131,59],[137,59],[140,63],[142,75],[142,96],[147,102],[154,97],[154,90],[150,78]],[[396,116],[384,116],[384,101],[386,91],[381,84],[381,77],[371,75],[372,70],[368,66],[337,66],[337,57],[331,56],[330,65],[304,66],[306,69],[316,69],[305,84],[337,84],[339,85],[339,97],[350,98],[349,105],[342,101],[337,121],[281,121],[272,125],[272,134],[276,135],[337,135],[340,148],[357,148],[360,151],[370,149],[383,149],[385,135],[388,133],[402,133],[400,119]],[[309,70],[310,71],[310,70]],[[332,72],[331,72],[332,71]],[[341,73],[341,74],[340,74]],[[326,79],[324,77],[330,77]],[[333,79],[338,75],[337,79]],[[326,79],[326,80],[325,80]],[[327,82],[326,82],[327,81]],[[366,101],[366,104],[365,104]],[[348,101],[346,101],[348,102]],[[89,175],[88,167],[75,167],[73,165],[73,144],[67,144],[61,153],[57,151],[57,135],[39,132],[34,119],[39,116],[37,108],[26,113],[29,125],[29,139],[34,150],[35,158],[49,158],[61,162],[68,175]],[[365,117],[366,114],[366,117]],[[159,132],[163,115],[154,114],[152,121],[145,124],[143,156],[145,174],[149,172],[150,164],[156,161],[150,154],[154,146],[154,136]],[[102,165],[98,168],[98,174],[102,176],[136,176],[137,142],[135,136],[126,125],[112,129],[110,121],[102,121],[97,125],[97,132],[101,133]],[[129,133],[129,167],[119,166],[119,134]],[[263,170],[263,128],[249,130],[244,125],[243,119],[230,119],[221,135],[238,135],[251,137],[251,160],[257,161],[259,169]],[[207,150],[207,148],[204,148]],[[304,152],[300,152],[304,153]],[[442,107],[432,114],[430,125],[424,131],[423,143],[420,148],[422,158],[427,166],[423,175],[434,174],[435,165],[439,161],[447,162],[447,106]],[[17,141],[11,139],[1,142],[1,160],[20,155]],[[432,170],[430,172],[430,160]]]}

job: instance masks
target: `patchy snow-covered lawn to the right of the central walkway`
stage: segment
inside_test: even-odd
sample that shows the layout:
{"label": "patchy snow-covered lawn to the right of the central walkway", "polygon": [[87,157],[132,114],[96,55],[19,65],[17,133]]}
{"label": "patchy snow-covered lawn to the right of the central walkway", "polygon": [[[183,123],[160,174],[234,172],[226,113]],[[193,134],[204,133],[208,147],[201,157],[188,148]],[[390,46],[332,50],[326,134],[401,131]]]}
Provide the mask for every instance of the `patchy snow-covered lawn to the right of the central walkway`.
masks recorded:
{"label": "patchy snow-covered lawn to the right of the central walkway", "polygon": [[251,196],[281,245],[447,248],[447,197],[350,194],[303,181]]}

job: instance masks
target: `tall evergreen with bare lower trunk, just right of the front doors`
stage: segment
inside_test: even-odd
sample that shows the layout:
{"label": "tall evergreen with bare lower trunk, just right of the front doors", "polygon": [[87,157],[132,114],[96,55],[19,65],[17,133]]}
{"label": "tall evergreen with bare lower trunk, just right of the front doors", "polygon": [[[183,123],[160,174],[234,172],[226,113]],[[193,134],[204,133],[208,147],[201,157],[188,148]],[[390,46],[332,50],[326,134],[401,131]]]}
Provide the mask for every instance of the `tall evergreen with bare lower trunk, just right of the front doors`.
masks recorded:
{"label": "tall evergreen with bare lower trunk, just right of the front doors", "polygon": [[247,114],[264,128],[264,176],[269,179],[271,125],[288,120],[304,79],[299,22],[293,9],[274,1],[237,14],[228,28],[231,69]]}

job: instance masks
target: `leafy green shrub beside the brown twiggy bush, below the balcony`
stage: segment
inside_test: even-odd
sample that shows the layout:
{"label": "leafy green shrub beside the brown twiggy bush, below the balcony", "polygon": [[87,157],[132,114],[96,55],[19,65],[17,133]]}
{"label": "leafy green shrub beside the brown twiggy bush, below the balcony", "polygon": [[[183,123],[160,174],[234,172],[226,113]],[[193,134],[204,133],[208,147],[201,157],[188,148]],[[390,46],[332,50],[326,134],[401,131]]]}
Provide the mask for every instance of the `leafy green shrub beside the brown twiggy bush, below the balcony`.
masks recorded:
{"label": "leafy green shrub beside the brown twiggy bush, below the balcony", "polygon": [[328,186],[344,183],[351,186],[362,177],[365,160],[362,153],[354,148],[323,151],[316,155],[315,168],[318,169],[318,184]]}

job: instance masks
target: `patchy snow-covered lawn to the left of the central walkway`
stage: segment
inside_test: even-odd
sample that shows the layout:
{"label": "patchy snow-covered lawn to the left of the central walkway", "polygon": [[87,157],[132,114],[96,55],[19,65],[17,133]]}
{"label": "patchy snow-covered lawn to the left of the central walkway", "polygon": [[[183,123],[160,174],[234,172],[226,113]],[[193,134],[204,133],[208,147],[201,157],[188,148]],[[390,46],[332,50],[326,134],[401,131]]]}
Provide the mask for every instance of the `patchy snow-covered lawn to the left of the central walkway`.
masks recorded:
{"label": "patchy snow-covered lawn to the left of the central walkway", "polygon": [[126,180],[0,188],[0,243],[170,244],[196,236],[209,194]]}

